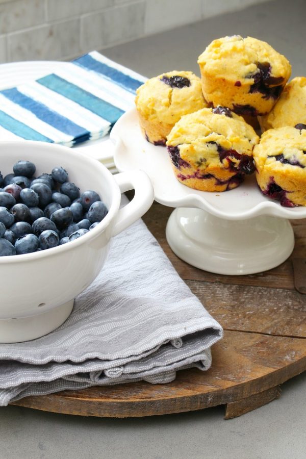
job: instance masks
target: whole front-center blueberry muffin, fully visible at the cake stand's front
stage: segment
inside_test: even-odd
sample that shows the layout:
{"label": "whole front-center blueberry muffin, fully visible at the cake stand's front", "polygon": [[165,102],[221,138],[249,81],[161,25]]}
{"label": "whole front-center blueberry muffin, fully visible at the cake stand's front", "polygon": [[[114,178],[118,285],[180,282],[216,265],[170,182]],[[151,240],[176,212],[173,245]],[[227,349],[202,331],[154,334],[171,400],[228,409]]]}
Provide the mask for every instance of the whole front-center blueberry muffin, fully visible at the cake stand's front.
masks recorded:
{"label": "whole front-center blueberry muffin, fully visible at the cake stand's front", "polygon": [[176,179],[202,191],[238,187],[254,171],[253,128],[225,107],[204,108],[183,116],[167,137]]}

